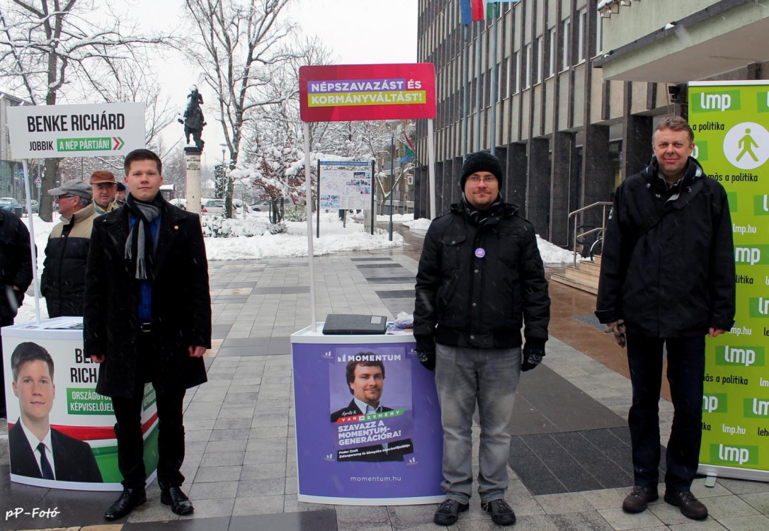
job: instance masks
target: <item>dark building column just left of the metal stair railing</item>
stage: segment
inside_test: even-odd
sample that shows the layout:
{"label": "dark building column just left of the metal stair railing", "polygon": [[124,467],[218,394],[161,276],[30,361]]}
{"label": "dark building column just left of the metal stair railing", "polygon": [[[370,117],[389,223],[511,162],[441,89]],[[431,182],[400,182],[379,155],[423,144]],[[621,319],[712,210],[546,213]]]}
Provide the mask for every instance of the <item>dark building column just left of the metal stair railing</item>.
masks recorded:
{"label": "dark building column just left of the metal stair railing", "polygon": [[571,181],[574,174],[574,133],[555,133],[550,180],[550,241],[567,245],[571,211]]}

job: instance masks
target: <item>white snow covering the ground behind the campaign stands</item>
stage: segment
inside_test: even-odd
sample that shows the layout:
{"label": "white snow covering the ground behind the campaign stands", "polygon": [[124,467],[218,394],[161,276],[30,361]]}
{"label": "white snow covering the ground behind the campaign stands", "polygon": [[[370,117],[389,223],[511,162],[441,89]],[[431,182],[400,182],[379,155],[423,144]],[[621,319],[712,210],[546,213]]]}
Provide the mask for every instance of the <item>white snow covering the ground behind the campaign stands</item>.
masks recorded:
{"label": "white snow covering the ground behind the campaign stands", "polygon": [[[384,249],[388,247],[400,247],[404,244],[400,234],[393,234],[393,241],[388,240],[388,231],[375,231],[369,234],[370,229],[364,227],[360,221],[351,220],[348,217],[347,227],[343,227],[337,211],[325,211],[321,213],[320,231],[321,237],[313,239],[313,254],[342,253],[345,251],[367,251],[371,249]],[[428,230],[430,221],[427,219],[414,220],[413,214],[395,214],[394,223],[401,223],[409,227],[411,231],[423,234]],[[377,216],[380,226],[390,220],[390,216]],[[28,219],[24,218],[28,224]],[[362,221],[362,220],[361,220]],[[256,212],[248,214],[245,220],[227,221],[238,225],[235,232],[238,234],[261,234],[253,237],[207,237],[205,239],[206,254],[209,261],[215,260],[255,260],[258,258],[276,257],[306,257],[307,256],[307,223],[305,221],[288,221],[285,234],[270,234],[267,231],[267,213]],[[48,234],[51,233],[55,223],[46,223],[39,217],[33,218],[35,228],[35,244],[38,247],[38,278],[42,273],[43,251]],[[312,231],[315,234],[317,227],[313,219]],[[539,252],[545,264],[565,264],[571,262],[571,252],[564,251],[548,241],[537,237]],[[32,290],[28,291],[32,294]],[[48,317],[45,311],[45,300],[40,304],[41,318]],[[17,323],[35,320],[34,297],[26,297],[24,304],[16,317]]]}

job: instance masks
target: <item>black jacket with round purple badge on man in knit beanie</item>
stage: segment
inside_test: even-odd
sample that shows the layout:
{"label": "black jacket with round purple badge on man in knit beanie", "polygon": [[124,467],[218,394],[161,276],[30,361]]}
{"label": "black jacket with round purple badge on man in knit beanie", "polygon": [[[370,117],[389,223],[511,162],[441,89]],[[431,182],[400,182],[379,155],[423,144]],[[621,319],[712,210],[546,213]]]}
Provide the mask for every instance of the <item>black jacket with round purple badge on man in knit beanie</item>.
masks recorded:
{"label": "black jacket with round purple badge on man in knit beanie", "polygon": [[417,350],[434,343],[481,348],[544,346],[550,297],[534,227],[518,207],[478,227],[456,204],[424,237],[414,309]]}

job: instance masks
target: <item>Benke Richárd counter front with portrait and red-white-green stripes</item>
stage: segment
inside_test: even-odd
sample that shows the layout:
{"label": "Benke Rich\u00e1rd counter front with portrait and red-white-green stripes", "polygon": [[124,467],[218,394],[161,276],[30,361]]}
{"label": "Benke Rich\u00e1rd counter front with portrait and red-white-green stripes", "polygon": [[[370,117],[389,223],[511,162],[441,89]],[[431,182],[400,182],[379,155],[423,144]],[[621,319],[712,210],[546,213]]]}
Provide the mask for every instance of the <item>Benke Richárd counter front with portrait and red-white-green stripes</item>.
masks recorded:
{"label": "Benke Rich\u00e1rd counter front with portrait and red-white-green stripes", "polygon": [[[2,347],[11,480],[55,489],[122,490],[112,400],[96,393],[98,364],[83,353],[82,318],[4,327]],[[158,466],[151,384],[145,387],[141,423],[151,481]]]}

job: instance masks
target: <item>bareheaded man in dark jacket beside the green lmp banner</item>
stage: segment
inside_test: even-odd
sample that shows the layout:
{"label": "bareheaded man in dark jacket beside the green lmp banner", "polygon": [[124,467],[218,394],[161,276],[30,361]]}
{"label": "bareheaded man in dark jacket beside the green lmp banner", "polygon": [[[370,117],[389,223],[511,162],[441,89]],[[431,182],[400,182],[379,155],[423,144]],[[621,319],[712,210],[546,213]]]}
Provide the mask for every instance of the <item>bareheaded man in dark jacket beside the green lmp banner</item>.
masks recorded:
{"label": "bareheaded man in dark jacket beside the green lmp banner", "polygon": [[641,513],[657,499],[663,345],[674,417],[664,499],[707,518],[691,493],[700,455],[705,336],[734,324],[734,247],[727,195],[691,157],[694,133],[679,117],[654,129],[651,164],[614,194],[595,312],[628,346],[628,415],[635,486],[624,499]]}

